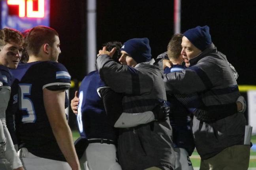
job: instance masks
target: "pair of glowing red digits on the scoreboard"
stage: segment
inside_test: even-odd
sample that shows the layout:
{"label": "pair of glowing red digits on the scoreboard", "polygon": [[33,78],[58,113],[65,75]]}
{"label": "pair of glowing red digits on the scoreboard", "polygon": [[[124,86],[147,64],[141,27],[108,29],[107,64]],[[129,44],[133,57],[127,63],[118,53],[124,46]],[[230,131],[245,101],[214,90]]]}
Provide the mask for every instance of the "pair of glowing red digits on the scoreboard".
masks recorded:
{"label": "pair of glowing red digits on the scoreboard", "polygon": [[45,15],[45,0],[38,1],[38,10],[33,10],[33,0],[7,0],[8,5],[19,6],[19,17],[43,18]]}

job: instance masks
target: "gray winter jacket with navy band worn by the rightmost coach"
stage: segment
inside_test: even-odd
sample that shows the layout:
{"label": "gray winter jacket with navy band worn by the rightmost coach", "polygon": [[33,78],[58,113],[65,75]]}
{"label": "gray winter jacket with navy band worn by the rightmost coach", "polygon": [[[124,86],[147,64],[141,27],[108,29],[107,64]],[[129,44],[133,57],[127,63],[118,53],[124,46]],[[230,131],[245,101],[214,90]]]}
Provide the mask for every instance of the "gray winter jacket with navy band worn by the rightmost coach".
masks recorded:
{"label": "gray winter jacket with navy band worn by the rightmost coach", "polygon": [[[171,94],[198,92],[204,104],[218,105],[236,102],[240,93],[226,56],[211,44],[197,57],[190,59],[190,67],[164,77],[166,90]],[[201,159],[215,156],[233,145],[243,144],[246,120],[236,113],[207,124],[194,116],[192,131]]]}

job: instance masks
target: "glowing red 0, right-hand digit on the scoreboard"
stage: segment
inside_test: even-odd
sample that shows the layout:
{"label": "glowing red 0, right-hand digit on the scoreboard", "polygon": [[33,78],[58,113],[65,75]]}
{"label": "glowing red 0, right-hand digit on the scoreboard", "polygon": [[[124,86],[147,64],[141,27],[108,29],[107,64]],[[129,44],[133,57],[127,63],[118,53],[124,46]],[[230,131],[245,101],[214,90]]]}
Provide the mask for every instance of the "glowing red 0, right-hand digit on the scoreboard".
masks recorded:
{"label": "glowing red 0, right-hand digit on the scoreboard", "polygon": [[27,17],[43,18],[44,17],[44,0],[38,0],[38,11],[33,11],[33,0],[27,0]]}

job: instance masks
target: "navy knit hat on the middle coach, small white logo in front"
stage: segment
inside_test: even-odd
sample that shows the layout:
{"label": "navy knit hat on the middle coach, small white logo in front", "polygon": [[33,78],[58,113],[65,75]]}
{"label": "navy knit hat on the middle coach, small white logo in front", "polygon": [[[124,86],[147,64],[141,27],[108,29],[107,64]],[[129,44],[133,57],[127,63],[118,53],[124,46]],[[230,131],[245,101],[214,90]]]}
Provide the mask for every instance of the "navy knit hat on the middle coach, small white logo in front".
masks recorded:
{"label": "navy knit hat on the middle coach, small white logo in front", "polygon": [[151,60],[151,48],[147,38],[130,39],[124,42],[120,50],[128,53],[137,63]]}

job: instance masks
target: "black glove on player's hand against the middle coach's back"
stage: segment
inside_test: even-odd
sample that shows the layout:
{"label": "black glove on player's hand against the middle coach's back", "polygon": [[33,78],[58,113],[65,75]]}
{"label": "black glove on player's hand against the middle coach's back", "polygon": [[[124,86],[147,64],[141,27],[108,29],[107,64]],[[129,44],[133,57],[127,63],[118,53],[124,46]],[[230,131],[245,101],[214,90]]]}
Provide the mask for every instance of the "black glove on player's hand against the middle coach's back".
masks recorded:
{"label": "black glove on player's hand against the middle coach's back", "polygon": [[164,101],[156,105],[156,107],[154,107],[154,109],[152,110],[152,112],[154,113],[155,120],[158,121],[167,120],[170,111],[170,107],[166,105]]}

